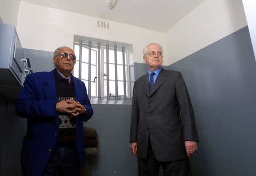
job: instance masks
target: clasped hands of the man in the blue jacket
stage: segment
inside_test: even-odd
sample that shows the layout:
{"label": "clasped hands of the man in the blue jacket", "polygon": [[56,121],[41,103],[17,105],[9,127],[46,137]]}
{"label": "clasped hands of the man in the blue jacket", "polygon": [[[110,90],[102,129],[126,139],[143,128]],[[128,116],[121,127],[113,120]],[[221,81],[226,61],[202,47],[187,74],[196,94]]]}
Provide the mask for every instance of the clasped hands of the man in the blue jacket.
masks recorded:
{"label": "clasped hands of the man in the blue jacket", "polygon": [[86,108],[80,104],[80,102],[75,101],[73,98],[70,100],[59,101],[56,104],[56,111],[59,113],[68,113],[73,116],[81,115],[86,113]]}

